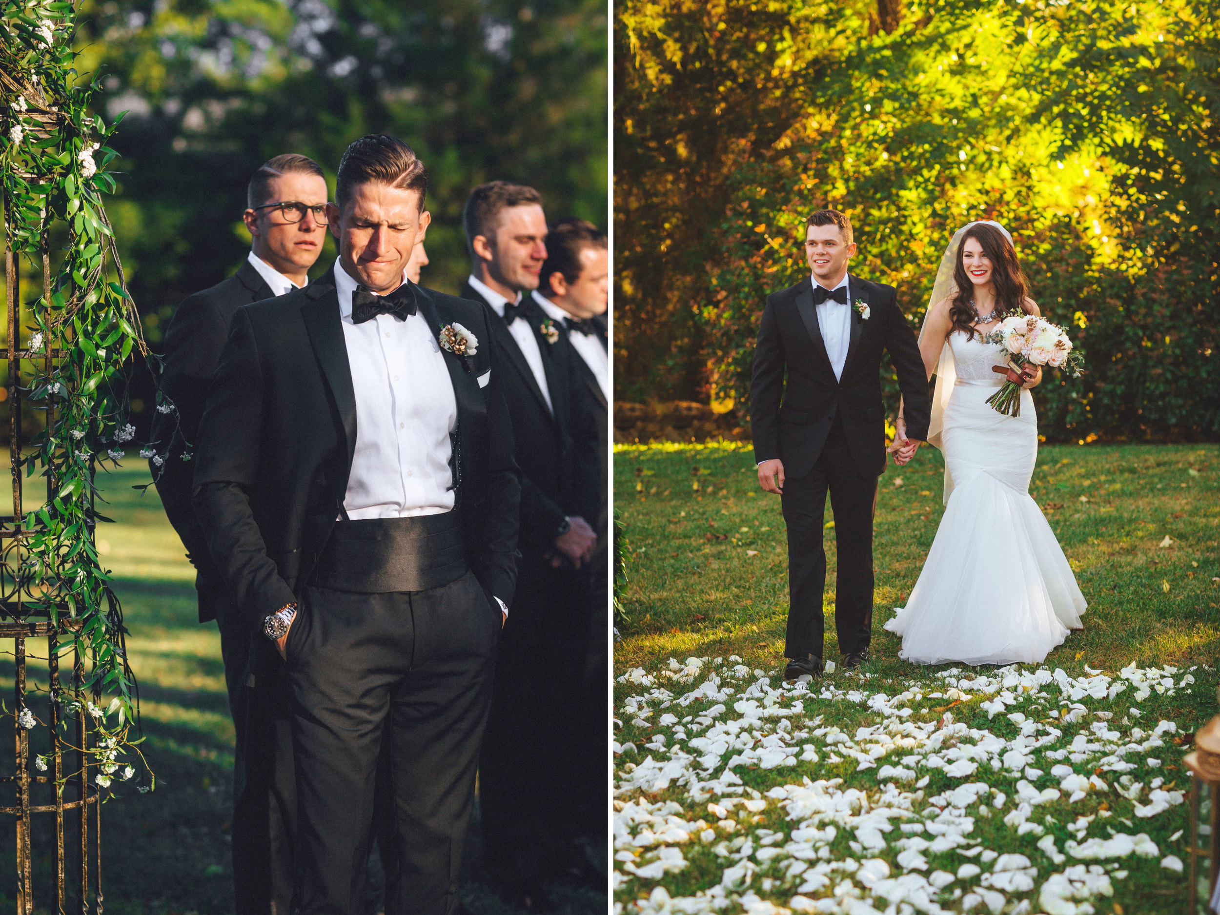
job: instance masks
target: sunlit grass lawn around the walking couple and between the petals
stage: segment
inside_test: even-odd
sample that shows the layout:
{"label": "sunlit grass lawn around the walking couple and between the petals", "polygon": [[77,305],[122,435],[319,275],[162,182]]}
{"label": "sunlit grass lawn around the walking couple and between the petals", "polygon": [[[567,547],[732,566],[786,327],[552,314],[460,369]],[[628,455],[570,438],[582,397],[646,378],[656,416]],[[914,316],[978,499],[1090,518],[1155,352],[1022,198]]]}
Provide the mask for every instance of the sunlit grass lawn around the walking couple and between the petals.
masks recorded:
{"label": "sunlit grass lawn around the walking couple and between the petals", "polygon": [[[1046,664],[1050,670],[1061,667],[1071,677],[1082,677],[1086,676],[1086,665],[1115,676],[1119,669],[1132,662],[1141,667],[1169,664],[1180,669],[1215,664],[1220,643],[1220,583],[1214,581],[1220,576],[1220,554],[1216,549],[1220,538],[1218,459],[1220,449],[1215,445],[1041,449],[1031,493],[1046,508],[1089,603],[1083,616],[1083,631],[1071,633],[1047,658]],[[926,449],[906,468],[899,470],[891,465],[881,477],[874,548],[877,573],[874,660],[866,666],[871,676],[861,682],[854,675],[838,671],[826,681],[838,689],[880,689],[891,695],[902,692],[908,684],[915,684],[921,693],[944,689],[944,681],[937,678],[936,673],[949,665],[920,669],[899,661],[899,639],[881,628],[892,617],[893,608],[903,604],[910,593],[932,543],[943,512],[942,475],[939,453]],[[747,667],[755,670],[758,675],[770,676],[772,686],[777,684],[783,664],[783,628],[788,603],[787,547],[780,500],[760,492],[752,454],[739,447],[621,449],[615,455],[615,492],[616,508],[626,525],[627,543],[627,583],[619,593],[627,619],[617,622],[622,642],[615,650],[616,675],[643,667],[658,676],[665,670],[670,658],[681,661],[689,656],[739,655]],[[828,505],[826,523],[826,659],[837,661],[839,654],[833,623],[834,532],[830,526],[832,515]],[[994,561],[1003,559],[996,556]],[[986,569],[978,569],[976,573],[986,575]],[[1035,669],[1036,665],[1026,666],[1026,670]],[[989,670],[993,669],[983,669],[983,672]],[[658,676],[658,686],[681,695],[702,682],[706,672],[708,669],[704,669],[692,686],[686,687],[675,686]],[[1180,678],[1182,673],[1179,672],[1177,676]],[[1205,671],[1200,666],[1194,676],[1198,682],[1193,688],[1180,689],[1171,698],[1154,694],[1142,706],[1147,717],[1139,723],[1149,728],[1159,717],[1164,717],[1192,731],[1215,714],[1215,671]],[[725,683],[732,683],[741,691],[754,680],[755,676],[749,676],[739,683],[728,680]],[[816,691],[817,684],[814,688]],[[661,699],[648,703],[649,708],[654,708],[649,727],[640,726],[638,720],[632,723],[626,714],[625,698],[632,694],[642,697],[647,692],[638,686],[616,686],[615,716],[622,722],[617,741],[631,741],[639,745],[655,739],[656,734],[670,733],[655,726],[660,715],[656,706],[661,704]],[[913,702],[916,714],[908,720],[935,720],[943,708],[931,706],[942,703],[948,705],[948,700]],[[732,708],[733,700],[727,700],[727,704]],[[784,705],[787,704],[784,700]],[[1119,726],[1120,716],[1126,716],[1131,704],[1130,692],[1120,694],[1113,702],[1114,723],[1120,731],[1130,731],[1135,726],[1133,719]],[[915,705],[926,708],[915,709]],[[692,704],[689,709],[680,709],[675,704],[666,708],[666,711],[682,719],[684,715],[699,715],[702,708],[703,703]],[[1047,708],[1054,708],[1054,704]],[[1089,714],[1093,708],[1089,706]],[[1109,709],[1110,705],[1105,703],[1097,708]],[[875,712],[848,702],[814,703],[809,709],[810,716],[827,715],[824,726],[834,723],[848,734],[859,726],[881,721]],[[1017,706],[1017,710],[1030,711],[1022,706]],[[980,710],[977,700],[966,702],[954,711],[958,712],[958,720],[965,721],[970,727],[989,727],[994,733],[1009,737],[1017,730],[1003,716],[992,721]],[[728,712],[727,717],[736,716]],[[1146,723],[1149,721],[1150,723]],[[802,725],[794,720],[793,727]],[[1087,728],[1082,732],[1087,732]],[[671,747],[677,742],[675,737],[669,739]],[[1176,769],[1182,752],[1168,744],[1160,755]],[[640,762],[647,754],[662,760],[666,753],[667,750],[653,752],[640,747],[638,755],[623,754],[619,765]],[[878,765],[888,761],[893,760],[878,760]],[[772,786],[799,783],[802,777],[843,777],[847,780],[844,788],[859,786],[878,789],[875,770],[865,776],[856,775],[856,764],[850,759],[842,765],[830,765],[824,760],[821,764],[800,764],[795,769],[756,769],[741,766],[736,771],[743,776],[748,787],[762,793]],[[619,777],[623,777],[626,771],[628,770],[619,769]],[[1108,773],[1108,777],[1113,775]],[[1146,772],[1135,775],[1147,781]],[[1165,770],[1164,775],[1166,782],[1176,780],[1179,788],[1187,784],[1181,770]],[[985,773],[980,770],[975,778],[991,783],[997,776],[1008,782],[1005,791],[1011,798],[1011,782],[1015,780],[1006,773]],[[1046,778],[1046,784],[1037,783],[1038,788],[1057,783],[1049,776]],[[956,783],[972,780],[964,778]],[[947,787],[953,787],[953,783],[933,773],[926,794],[932,795],[935,791]],[[911,791],[911,786],[903,786],[903,791]],[[715,820],[704,809],[705,805],[692,805],[682,795],[682,791],[670,788],[639,797],[650,802],[677,800],[684,810],[680,816]],[[1116,813],[1130,811],[1131,802],[1108,797]],[[623,795],[621,799],[631,798]],[[1119,802],[1125,808],[1120,808]],[[1011,803],[1009,802],[1009,806]],[[1036,810],[1039,820],[1046,811],[1053,813],[1061,821],[1071,822],[1074,814],[1089,811],[1086,809],[1089,803],[1096,806],[1097,802],[1081,802],[1071,811],[1068,811],[1065,802]],[[760,815],[761,825],[780,831],[794,827],[794,824],[786,824],[775,813],[777,811],[769,808],[766,814]],[[1125,815],[1130,816],[1130,813]],[[1107,821],[1107,825],[1124,832],[1148,831],[1160,845],[1160,855],[1172,853],[1185,860],[1183,849],[1188,845],[1188,834],[1186,838],[1169,841],[1171,833],[1185,825],[1185,806],[1179,806],[1150,820],[1136,820],[1135,828],[1127,828],[1116,822],[1116,819]],[[1010,850],[1011,845],[1017,844],[1013,841],[1015,830],[1009,830],[997,820],[981,820],[980,824],[972,839],[1000,852]],[[1100,821],[1096,824],[1099,825]],[[1088,834],[1100,834],[1104,838],[1107,833],[1094,828]],[[720,838],[717,834],[715,841],[719,842]],[[836,854],[843,858],[855,854],[859,858],[859,854],[848,850],[847,838],[849,836],[841,834]],[[1022,841],[1030,845],[1024,850],[1039,865],[1043,877],[1053,870],[1063,870],[1063,866],[1052,867],[1046,858],[1039,858],[1039,853],[1032,850],[1032,836],[1024,837]],[[1058,841],[1063,848],[1061,838]],[[721,871],[732,863],[717,859],[698,847],[687,847],[686,853],[691,865],[662,881],[673,894],[706,889],[720,880]],[[1069,859],[1068,865],[1072,864],[1077,861]],[[1185,909],[1183,876],[1160,869],[1158,861],[1143,866],[1132,864],[1131,859],[1124,861],[1124,866],[1128,864],[1138,876],[1115,881],[1114,902],[1119,903],[1113,905],[1115,913],[1169,913]],[[942,863],[935,866],[947,865]],[[927,871],[925,876],[926,874]],[[628,902],[647,897],[650,886],[647,881],[631,878],[617,898]],[[758,883],[752,888],[762,892]],[[952,888],[950,886],[949,889]],[[780,884],[773,892],[764,893],[781,905],[792,894],[792,886]],[[1037,906],[1037,897],[1033,898]],[[942,904],[954,908],[953,903]],[[1094,904],[1100,906],[1098,911],[1111,910],[1110,900],[1096,899]],[[978,909],[985,910],[986,906]],[[1033,911],[1038,911],[1038,908]]]}

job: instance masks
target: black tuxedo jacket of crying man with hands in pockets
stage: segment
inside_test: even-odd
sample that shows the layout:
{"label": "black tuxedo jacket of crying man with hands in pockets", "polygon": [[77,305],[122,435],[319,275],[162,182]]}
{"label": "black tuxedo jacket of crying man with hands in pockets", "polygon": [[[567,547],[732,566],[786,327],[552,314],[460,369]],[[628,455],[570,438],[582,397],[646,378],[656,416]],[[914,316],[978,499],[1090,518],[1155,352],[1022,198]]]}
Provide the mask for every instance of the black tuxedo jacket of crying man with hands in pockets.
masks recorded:
{"label": "black tuxedo jacket of crying man with hands in pockets", "polygon": [[[458,400],[456,504],[471,570],[489,600],[509,603],[521,488],[504,372],[482,309],[412,290],[433,334],[461,323],[478,338],[473,356],[445,351]],[[348,490],[357,421],[333,278],[238,309],[199,427],[194,506],[251,631],[312,573]]]}

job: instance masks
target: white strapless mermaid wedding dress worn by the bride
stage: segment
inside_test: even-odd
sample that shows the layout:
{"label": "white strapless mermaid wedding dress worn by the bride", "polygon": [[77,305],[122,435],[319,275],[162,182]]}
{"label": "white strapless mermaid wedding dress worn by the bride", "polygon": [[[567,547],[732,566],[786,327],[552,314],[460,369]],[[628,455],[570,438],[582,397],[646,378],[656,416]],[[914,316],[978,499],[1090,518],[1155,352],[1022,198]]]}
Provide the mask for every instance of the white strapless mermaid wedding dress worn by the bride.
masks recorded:
{"label": "white strapless mermaid wedding dress worn by the bride", "polygon": [[941,448],[952,478],[932,549],[905,608],[886,628],[916,664],[1037,664],[1081,627],[1087,604],[1046,516],[1028,493],[1038,454],[1033,396],[1020,416],[987,398],[1004,383],[998,344],[949,336],[956,382]]}

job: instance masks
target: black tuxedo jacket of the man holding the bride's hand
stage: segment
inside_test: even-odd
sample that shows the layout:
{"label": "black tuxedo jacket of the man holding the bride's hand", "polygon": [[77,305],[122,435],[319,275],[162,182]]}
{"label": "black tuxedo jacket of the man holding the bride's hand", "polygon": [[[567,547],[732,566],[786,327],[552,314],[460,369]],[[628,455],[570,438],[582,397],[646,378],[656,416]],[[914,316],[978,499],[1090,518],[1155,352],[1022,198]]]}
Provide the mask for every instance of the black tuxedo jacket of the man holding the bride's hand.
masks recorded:
{"label": "black tuxedo jacket of the man holding the bride's hand", "polygon": [[[850,276],[848,288],[852,336],[838,379],[826,355],[809,277],[771,293],[762,311],[750,383],[754,459],[761,462],[778,458],[784,475],[794,479],[813,470],[836,412],[842,416],[848,449],[859,471],[865,476],[884,472],[882,350],[889,351],[898,373],[908,437],[927,438],[927,372],[893,287]],[[856,309],[859,303],[869,306],[867,321]]]}

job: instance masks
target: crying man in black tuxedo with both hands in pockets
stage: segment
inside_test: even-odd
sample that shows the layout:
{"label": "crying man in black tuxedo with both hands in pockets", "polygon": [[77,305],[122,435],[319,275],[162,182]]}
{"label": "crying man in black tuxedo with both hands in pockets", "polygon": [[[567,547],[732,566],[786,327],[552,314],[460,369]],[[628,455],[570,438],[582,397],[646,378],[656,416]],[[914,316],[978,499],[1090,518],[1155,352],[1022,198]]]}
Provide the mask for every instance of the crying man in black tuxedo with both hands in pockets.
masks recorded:
{"label": "crying man in black tuxedo with both hands in pockets", "polygon": [[296,761],[293,910],[362,903],[389,744],[387,911],[453,913],[520,483],[483,309],[415,285],[423,163],[364,137],[327,210],[334,268],[239,309],[199,431],[194,506],[246,631],[284,659]]}

